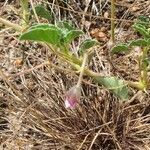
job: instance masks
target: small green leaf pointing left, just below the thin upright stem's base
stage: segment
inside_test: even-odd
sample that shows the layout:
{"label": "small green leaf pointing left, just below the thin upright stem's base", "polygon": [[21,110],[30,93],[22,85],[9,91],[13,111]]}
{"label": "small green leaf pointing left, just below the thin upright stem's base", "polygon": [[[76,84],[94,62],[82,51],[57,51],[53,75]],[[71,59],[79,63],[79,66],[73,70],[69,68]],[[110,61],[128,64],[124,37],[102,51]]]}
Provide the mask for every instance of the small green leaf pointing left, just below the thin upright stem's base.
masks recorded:
{"label": "small green leaf pointing left, just below the thin upright stem's base", "polygon": [[115,53],[122,53],[122,52],[128,52],[129,49],[128,49],[128,45],[127,44],[118,44],[118,45],[115,45],[112,50],[111,50],[111,53],[115,54]]}

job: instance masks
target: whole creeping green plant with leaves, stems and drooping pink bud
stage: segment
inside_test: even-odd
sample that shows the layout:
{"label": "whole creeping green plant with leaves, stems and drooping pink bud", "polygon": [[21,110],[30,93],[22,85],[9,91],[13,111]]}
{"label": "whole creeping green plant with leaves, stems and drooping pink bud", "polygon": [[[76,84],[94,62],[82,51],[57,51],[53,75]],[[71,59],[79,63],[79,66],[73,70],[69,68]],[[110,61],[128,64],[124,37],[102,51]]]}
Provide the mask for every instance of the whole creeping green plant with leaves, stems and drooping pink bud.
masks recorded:
{"label": "whole creeping green plant with leaves, stems and drooping pink bud", "polygon": [[[23,8],[23,10],[27,12],[28,10],[26,8],[28,1],[22,2],[25,2],[24,4],[26,7]],[[39,17],[45,18],[50,21],[51,16],[43,6],[36,6],[35,11]],[[28,15],[24,15],[23,17],[26,22],[29,21]],[[149,87],[148,65],[150,63],[148,58],[148,51],[150,49],[150,29],[149,20],[146,18],[140,18],[138,22],[133,26],[134,29],[143,36],[143,38],[116,45],[112,48],[111,51],[112,54],[114,54],[127,52],[129,48],[133,46],[140,46],[142,48],[141,56],[139,58],[139,69],[141,74],[138,82],[125,81],[113,76],[105,77],[90,70],[88,68],[88,63],[91,60],[91,56],[93,54],[92,47],[97,45],[98,42],[94,39],[86,39],[79,45],[78,56],[75,55],[70,50],[71,44],[74,40],[76,40],[76,38],[82,36],[84,32],[76,29],[68,22],[61,21],[56,25],[38,23],[32,25],[29,28],[27,27],[28,25],[19,26],[2,18],[0,18],[0,22],[19,31],[21,34],[19,38],[20,40],[30,40],[46,44],[49,49],[58,56],[58,58],[61,58],[64,61],[68,62],[72,66],[74,71],[79,73],[78,83],[66,93],[66,107],[74,108],[77,102],[79,102],[79,93],[81,90],[83,75],[92,77],[96,84],[98,83],[100,85],[103,85],[105,88],[112,91],[114,95],[122,100],[127,100],[129,97],[128,86],[135,87],[139,90],[146,90]]]}

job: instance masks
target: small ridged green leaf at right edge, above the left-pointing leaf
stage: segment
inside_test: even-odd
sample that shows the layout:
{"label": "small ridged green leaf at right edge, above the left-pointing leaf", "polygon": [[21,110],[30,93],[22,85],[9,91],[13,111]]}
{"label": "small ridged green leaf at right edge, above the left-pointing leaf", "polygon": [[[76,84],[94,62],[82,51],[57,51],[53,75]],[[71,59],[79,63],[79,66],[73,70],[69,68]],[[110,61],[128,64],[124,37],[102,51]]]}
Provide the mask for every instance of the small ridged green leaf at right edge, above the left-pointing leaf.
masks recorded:
{"label": "small ridged green leaf at right edge, above the left-pointing leaf", "polygon": [[133,28],[145,38],[150,38],[149,31],[144,25],[136,23],[133,25]]}

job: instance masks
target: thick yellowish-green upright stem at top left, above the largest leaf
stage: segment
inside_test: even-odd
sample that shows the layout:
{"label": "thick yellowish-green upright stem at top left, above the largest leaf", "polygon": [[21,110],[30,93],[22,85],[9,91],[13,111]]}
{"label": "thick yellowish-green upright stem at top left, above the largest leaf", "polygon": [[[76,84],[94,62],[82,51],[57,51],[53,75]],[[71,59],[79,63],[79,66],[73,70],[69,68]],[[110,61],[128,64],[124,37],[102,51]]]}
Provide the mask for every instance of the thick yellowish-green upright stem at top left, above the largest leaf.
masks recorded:
{"label": "thick yellowish-green upright stem at top left, above the largest leaf", "polygon": [[28,0],[20,0],[22,11],[23,11],[23,21],[22,25],[26,27],[29,24],[29,8],[28,8]]}

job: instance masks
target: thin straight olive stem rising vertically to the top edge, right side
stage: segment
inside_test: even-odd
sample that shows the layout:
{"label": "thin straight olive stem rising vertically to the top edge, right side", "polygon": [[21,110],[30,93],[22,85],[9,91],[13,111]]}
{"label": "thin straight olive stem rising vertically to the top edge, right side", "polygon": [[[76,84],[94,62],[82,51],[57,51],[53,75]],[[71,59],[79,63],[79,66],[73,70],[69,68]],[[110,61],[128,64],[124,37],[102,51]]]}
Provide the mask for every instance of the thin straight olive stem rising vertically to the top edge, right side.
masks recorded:
{"label": "thin straight olive stem rising vertically to the top edge, right side", "polygon": [[115,0],[111,0],[111,40],[114,43],[115,42]]}

